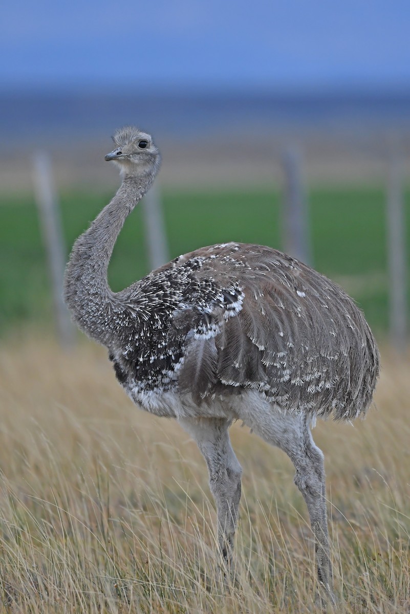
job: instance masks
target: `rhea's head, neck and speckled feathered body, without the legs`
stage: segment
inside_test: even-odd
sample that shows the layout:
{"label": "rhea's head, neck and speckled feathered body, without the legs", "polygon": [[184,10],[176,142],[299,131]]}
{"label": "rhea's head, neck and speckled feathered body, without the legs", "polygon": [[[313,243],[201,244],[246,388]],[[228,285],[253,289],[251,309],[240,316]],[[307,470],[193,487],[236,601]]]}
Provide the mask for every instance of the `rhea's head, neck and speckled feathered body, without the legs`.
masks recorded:
{"label": "rhea's head, neck and speckled feathered body, without the legs", "polygon": [[[141,138],[149,144],[137,152]],[[131,398],[164,415],[161,395],[171,392],[181,403],[189,397],[201,415],[215,400],[253,391],[282,411],[364,414],[379,354],[362,312],[339,286],[279,251],[203,247],[122,292],[110,290],[115,240],[159,166],[146,133],[126,127],[114,142],[130,152],[128,174],[75,243],[65,298],[79,327],[109,349]]]}

